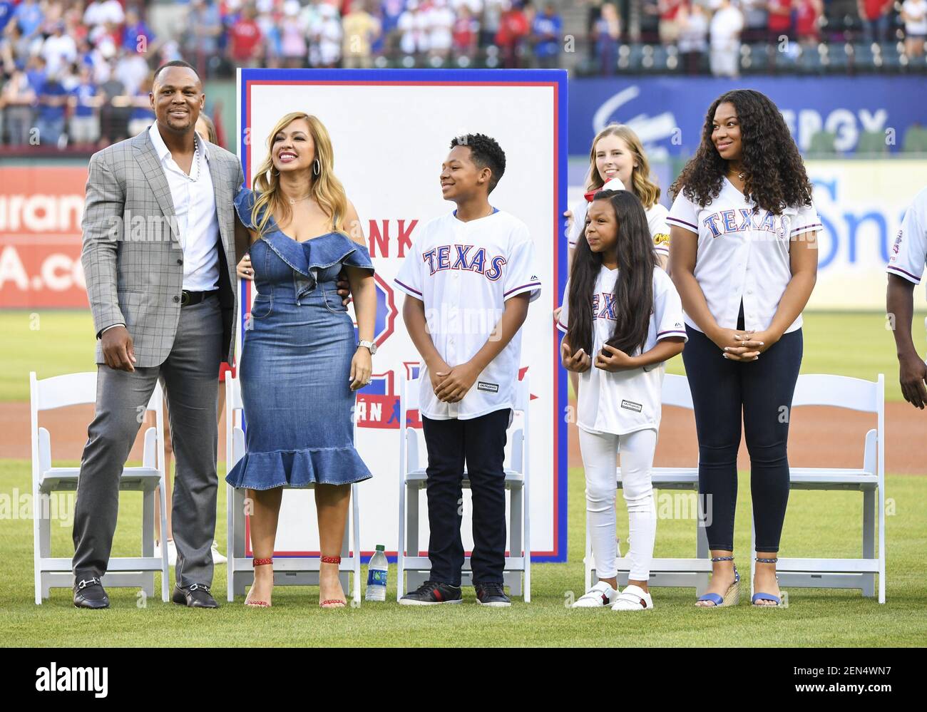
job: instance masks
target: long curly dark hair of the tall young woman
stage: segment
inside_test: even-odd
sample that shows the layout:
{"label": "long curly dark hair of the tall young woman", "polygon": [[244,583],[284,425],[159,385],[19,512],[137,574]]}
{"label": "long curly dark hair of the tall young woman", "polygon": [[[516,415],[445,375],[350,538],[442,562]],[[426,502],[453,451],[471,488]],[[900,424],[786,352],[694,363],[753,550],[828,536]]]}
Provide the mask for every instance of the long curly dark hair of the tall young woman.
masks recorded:
{"label": "long curly dark hair of the tall young woman", "polygon": [[711,125],[718,105],[725,102],[733,104],[741,127],[743,195],[775,215],[780,215],[783,208],[811,205],[811,182],[798,146],[779,108],[767,95],[753,89],[722,94],[708,108],[702,143],[670,186],[672,197],[675,199],[682,191],[704,208],[721,192],[728,161],[721,158],[711,141]]}

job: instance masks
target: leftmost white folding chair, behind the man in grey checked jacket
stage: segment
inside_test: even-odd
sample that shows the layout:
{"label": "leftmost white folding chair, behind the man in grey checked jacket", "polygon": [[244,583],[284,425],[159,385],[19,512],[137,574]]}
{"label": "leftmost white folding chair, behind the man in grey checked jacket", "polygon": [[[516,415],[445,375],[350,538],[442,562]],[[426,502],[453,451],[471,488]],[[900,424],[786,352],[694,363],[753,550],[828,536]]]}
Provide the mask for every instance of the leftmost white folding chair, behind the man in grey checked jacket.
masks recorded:
{"label": "leftmost white folding chair, behind the man in grey checked jacket", "polygon": [[[53,467],[51,438],[39,427],[39,413],[69,405],[96,402],[96,373],[57,375],[38,380],[29,375],[32,416],[32,502],[35,603],[42,604],[52,588],[72,588],[71,559],[51,555],[51,497],[54,492],[77,490],[80,467]],[[161,531],[167,531],[167,503],[164,487],[164,398],[160,384],[148,401],[146,411],[155,413],[155,425],[145,431],[141,467],[125,467],[120,491],[142,492],[142,555],[112,556],[107,573],[100,579],[106,588],[140,588],[147,596],[155,592],[155,571],[161,572],[161,600],[168,600],[168,548],[155,553],[155,490],[159,490]]]}

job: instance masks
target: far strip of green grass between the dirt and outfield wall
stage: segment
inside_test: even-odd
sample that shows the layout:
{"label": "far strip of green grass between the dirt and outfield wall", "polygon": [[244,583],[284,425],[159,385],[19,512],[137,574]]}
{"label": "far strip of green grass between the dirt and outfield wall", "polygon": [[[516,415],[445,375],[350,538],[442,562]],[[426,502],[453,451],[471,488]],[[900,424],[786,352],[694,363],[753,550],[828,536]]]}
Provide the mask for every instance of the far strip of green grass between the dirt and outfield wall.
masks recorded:
{"label": "far strip of green grass between the dirt and outfield wall", "polygon": [[[914,316],[914,342],[924,343],[923,313]],[[29,400],[29,372],[40,378],[94,371],[94,325],[90,312],[5,312],[0,314],[4,368],[0,401]],[[885,375],[885,398],[901,401],[895,339],[877,312],[809,312],[805,315],[804,374]],[[684,374],[682,359],[667,373]]]}

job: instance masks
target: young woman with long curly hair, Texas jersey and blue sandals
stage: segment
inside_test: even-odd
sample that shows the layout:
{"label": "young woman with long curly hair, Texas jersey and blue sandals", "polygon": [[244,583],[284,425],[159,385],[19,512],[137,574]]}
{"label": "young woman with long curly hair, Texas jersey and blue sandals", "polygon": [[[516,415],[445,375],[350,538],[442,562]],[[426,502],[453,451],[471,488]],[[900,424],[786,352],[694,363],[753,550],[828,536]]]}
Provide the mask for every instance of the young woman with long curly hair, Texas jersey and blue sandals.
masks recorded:
{"label": "young woman with long curly hair, Texas jersey and blue sandals", "polygon": [[672,279],[699,440],[699,495],[713,576],[697,605],[736,604],[733,566],[741,414],[756,526],[753,604],[779,605],[789,499],[789,410],[802,310],[818,271],[818,213],[798,148],[767,96],[735,90],[708,109],[702,143],[670,191]]}

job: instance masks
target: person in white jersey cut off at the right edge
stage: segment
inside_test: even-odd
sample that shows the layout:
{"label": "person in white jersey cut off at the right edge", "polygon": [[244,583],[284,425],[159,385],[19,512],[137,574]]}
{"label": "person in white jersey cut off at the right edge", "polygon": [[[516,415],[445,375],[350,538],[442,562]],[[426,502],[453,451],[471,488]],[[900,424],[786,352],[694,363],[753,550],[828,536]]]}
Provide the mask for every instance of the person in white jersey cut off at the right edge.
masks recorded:
{"label": "person in white jersey cut off at the right edge", "polygon": [[[914,314],[914,286],[921,284],[927,261],[927,188],[914,198],[888,259],[886,308],[895,317],[895,346],[898,352],[898,380],[905,400],[923,410],[927,405],[927,364],[918,355],[911,338]],[[927,324],[927,322],[925,322]]]}

